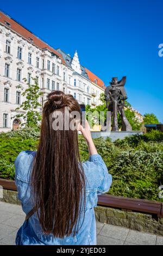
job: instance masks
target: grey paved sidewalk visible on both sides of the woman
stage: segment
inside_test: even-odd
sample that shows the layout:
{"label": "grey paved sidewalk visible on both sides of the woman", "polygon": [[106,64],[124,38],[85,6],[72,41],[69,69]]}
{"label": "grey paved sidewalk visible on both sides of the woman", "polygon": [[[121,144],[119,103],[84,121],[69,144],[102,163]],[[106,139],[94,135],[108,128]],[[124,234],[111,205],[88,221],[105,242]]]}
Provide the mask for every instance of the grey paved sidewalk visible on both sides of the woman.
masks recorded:
{"label": "grey paved sidewalk visible on both sides of the woman", "polygon": [[[0,245],[15,245],[15,236],[24,217],[20,205],[0,202]],[[97,244],[163,245],[163,236],[97,222]]]}

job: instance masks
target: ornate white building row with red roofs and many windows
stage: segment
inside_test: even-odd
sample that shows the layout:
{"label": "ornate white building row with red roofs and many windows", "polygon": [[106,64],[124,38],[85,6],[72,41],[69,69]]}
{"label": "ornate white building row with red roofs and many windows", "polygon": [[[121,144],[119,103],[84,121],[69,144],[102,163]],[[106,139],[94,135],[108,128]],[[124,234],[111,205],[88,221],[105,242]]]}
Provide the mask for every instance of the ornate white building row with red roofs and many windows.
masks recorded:
{"label": "ornate white building row with red roofs and many windows", "polygon": [[24,101],[21,93],[27,85],[23,78],[30,83],[32,77],[37,78],[43,92],[41,108],[54,89],[92,106],[100,103],[99,96],[105,89],[99,77],[80,65],[77,52],[71,58],[55,50],[0,11],[0,131],[11,130],[22,121],[11,117]]}

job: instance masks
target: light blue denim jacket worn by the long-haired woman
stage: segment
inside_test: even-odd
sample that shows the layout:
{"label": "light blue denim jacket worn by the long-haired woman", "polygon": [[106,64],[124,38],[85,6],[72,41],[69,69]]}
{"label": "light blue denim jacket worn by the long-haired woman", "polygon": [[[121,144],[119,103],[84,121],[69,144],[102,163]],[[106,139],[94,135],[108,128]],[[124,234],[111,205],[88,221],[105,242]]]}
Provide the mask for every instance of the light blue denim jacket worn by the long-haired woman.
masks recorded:
{"label": "light blue denim jacket worn by the long-haired woman", "polygon": [[[34,206],[30,173],[35,153],[35,151],[22,151],[15,160],[15,184],[18,199],[21,201],[22,209],[26,214]],[[77,235],[60,239],[52,234],[43,234],[35,213],[29,220],[24,221],[18,230],[16,245],[96,245],[96,220],[93,208],[97,206],[97,195],[109,190],[112,178],[102,157],[98,154],[91,155],[89,160],[83,163],[83,168],[86,176],[86,206],[82,227]]]}

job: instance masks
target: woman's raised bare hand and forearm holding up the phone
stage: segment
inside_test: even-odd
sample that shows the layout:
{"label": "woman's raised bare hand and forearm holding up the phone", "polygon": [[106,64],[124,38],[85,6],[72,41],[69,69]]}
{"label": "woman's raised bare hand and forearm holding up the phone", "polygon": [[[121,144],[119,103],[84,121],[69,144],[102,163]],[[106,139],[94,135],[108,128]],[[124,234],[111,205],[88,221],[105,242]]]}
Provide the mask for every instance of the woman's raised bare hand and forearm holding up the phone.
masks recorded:
{"label": "woman's raised bare hand and forearm holding up the phone", "polygon": [[95,144],[93,143],[93,140],[92,140],[90,125],[88,121],[85,120],[85,127],[79,124],[78,130],[82,132],[82,135],[85,138],[85,141],[87,143],[87,147],[89,150],[89,154],[90,155],[98,154]]}

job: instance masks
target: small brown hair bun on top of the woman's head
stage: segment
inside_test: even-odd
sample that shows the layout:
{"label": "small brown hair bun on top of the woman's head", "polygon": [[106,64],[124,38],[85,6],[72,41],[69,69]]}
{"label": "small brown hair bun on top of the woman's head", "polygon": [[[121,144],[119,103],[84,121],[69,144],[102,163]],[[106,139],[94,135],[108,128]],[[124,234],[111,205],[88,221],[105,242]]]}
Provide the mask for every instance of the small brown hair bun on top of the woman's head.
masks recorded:
{"label": "small brown hair bun on top of the woman's head", "polygon": [[47,99],[49,102],[53,103],[55,106],[62,107],[66,101],[66,95],[60,90],[54,90],[48,94]]}

